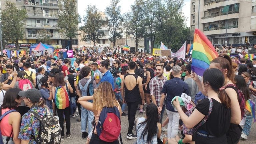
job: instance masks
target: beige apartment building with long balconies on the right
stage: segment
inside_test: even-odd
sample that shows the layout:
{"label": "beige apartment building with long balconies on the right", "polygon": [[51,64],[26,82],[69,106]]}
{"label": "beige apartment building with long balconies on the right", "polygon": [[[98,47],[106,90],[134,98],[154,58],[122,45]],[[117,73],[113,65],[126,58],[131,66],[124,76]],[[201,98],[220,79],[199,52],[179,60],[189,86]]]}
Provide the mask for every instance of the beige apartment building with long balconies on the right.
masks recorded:
{"label": "beige apartment building with long balconies on the right", "polygon": [[[256,44],[256,0],[191,0],[190,28],[212,44]],[[191,43],[193,40],[191,40]]]}

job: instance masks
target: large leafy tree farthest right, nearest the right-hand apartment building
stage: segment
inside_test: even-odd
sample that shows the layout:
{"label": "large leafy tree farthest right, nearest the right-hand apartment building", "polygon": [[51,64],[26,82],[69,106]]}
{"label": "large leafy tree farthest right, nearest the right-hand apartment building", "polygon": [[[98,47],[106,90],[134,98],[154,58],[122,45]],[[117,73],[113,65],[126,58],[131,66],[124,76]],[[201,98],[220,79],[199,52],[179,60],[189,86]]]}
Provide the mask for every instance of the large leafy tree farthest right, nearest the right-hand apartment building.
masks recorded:
{"label": "large leafy tree farthest right, nearest the right-hand apartment building", "polygon": [[165,0],[156,3],[157,42],[163,42],[168,48],[179,49],[190,36],[182,13],[183,0]]}

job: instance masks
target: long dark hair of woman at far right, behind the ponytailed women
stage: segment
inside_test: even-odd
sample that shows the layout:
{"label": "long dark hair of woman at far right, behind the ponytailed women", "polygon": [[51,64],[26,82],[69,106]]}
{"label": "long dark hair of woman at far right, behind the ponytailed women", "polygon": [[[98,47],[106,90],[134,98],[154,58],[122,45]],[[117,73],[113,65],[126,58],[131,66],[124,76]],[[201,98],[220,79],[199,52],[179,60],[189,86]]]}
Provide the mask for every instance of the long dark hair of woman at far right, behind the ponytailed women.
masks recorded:
{"label": "long dark hair of woman at far right, behind the ponytailed women", "polygon": [[247,101],[248,98],[249,98],[249,89],[246,86],[244,77],[242,77],[241,75],[236,75],[235,76],[235,81],[237,81],[236,87],[243,92],[244,100]]}

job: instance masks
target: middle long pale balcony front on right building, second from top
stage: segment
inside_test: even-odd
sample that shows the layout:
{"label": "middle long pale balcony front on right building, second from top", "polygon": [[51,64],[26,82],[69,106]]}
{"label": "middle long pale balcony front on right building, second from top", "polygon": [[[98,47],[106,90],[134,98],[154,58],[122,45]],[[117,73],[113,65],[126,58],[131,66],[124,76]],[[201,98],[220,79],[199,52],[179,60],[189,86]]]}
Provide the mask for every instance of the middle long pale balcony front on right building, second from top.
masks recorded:
{"label": "middle long pale balcony front on right building, second from top", "polygon": [[[233,12],[228,14],[228,19],[234,19],[234,18],[239,18],[239,13]],[[214,21],[221,21],[221,20],[226,20],[227,15],[214,15],[214,16],[208,16],[208,17],[203,17],[201,18],[201,24],[203,23],[209,23],[209,22],[214,22]]]}

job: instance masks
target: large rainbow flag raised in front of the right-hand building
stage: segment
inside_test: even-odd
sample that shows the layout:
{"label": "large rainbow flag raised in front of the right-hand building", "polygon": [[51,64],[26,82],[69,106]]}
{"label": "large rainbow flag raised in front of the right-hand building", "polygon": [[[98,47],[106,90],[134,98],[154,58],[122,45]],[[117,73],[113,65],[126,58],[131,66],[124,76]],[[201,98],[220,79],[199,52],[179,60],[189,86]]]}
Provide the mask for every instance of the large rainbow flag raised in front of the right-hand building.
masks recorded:
{"label": "large rainbow flag raised in front of the right-hand building", "polygon": [[196,74],[203,76],[204,71],[209,68],[210,62],[216,57],[218,57],[218,53],[215,51],[212,43],[199,29],[195,29],[192,70]]}

